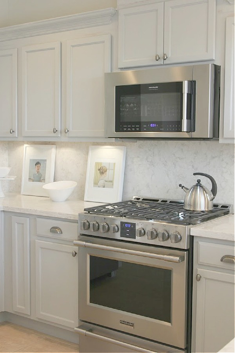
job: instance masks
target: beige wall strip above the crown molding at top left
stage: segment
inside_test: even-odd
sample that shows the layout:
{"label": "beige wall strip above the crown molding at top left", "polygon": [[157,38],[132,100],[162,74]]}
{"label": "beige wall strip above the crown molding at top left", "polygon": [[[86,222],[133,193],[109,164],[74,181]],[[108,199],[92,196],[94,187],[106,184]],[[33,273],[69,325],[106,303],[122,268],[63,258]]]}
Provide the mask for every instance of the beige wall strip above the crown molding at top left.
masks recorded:
{"label": "beige wall strip above the crown molding at top left", "polygon": [[1,0],[0,27],[117,7],[117,0]]}

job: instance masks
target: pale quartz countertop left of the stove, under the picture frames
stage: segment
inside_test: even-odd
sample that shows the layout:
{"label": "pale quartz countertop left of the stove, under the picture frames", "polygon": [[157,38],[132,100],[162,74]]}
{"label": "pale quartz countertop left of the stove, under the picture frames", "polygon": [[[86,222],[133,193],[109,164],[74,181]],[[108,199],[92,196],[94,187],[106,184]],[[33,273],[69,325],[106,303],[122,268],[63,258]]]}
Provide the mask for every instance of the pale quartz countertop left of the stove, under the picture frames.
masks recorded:
{"label": "pale quartz countertop left of the stove, under the picture frames", "polygon": [[5,197],[0,198],[0,211],[78,220],[78,213],[84,208],[100,204],[82,200],[54,202],[49,197],[5,193]]}

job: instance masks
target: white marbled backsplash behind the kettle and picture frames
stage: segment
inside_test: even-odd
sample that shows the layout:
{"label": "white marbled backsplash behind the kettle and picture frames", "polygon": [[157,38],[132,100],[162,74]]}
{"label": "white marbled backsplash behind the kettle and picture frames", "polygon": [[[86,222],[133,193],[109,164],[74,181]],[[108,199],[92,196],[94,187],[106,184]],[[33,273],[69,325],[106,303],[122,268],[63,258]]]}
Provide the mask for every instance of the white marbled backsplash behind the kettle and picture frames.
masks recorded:
{"label": "white marbled backsplash behind the kettle and picture frames", "polygon": [[[48,144],[48,143],[36,143]],[[53,143],[49,143],[53,144]],[[126,146],[123,200],[132,196],[184,199],[179,183],[190,187],[194,172],[212,175],[217,183],[215,202],[234,204],[234,145],[218,141],[137,141],[123,143],[56,142],[54,180],[75,180],[70,199],[84,199],[89,145]],[[20,193],[24,142],[0,142],[0,166],[12,167],[17,178],[2,181],[2,190]],[[211,189],[210,181],[200,177]]]}

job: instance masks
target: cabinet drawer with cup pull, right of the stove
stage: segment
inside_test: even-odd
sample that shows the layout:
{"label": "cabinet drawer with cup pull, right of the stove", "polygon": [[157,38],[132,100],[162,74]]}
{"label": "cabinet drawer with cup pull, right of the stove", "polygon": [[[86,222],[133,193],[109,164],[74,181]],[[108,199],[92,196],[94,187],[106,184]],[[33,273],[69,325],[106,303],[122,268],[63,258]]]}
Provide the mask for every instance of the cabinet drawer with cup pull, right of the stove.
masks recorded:
{"label": "cabinet drawer with cup pull, right of the stove", "polygon": [[198,264],[234,270],[234,249],[232,245],[212,244],[199,241]]}

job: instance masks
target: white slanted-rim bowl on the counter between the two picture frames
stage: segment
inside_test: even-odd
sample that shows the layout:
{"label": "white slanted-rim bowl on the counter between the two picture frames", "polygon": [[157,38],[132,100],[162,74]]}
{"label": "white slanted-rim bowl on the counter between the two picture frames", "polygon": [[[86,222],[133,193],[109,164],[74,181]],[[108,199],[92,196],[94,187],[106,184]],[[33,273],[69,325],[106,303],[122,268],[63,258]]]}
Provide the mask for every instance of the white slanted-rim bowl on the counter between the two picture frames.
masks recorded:
{"label": "white slanted-rim bowl on the counter between the two picture frames", "polygon": [[52,201],[65,201],[73,192],[76,181],[54,181],[43,185],[43,189],[47,190]]}

